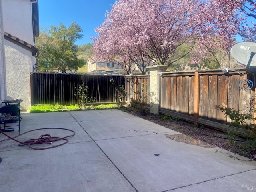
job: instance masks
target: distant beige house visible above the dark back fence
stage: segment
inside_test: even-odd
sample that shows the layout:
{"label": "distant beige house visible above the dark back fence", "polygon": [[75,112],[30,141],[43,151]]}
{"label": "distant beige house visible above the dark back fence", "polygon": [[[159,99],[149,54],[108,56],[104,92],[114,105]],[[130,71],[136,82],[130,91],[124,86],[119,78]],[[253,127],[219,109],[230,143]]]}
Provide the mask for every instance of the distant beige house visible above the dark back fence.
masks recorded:
{"label": "distant beige house visible above the dark back fence", "polygon": [[[114,62],[94,61],[92,58],[87,60],[87,71],[90,73],[116,73],[119,74],[119,65]],[[124,74],[124,70],[120,69],[120,74]]]}

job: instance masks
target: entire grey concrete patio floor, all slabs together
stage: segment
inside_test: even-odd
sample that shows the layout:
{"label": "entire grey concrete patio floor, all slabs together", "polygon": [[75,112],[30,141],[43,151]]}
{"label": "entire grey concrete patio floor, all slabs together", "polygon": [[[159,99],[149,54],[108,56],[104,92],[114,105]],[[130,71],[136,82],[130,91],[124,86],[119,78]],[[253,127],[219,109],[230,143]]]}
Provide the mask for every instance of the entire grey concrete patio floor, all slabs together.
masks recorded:
{"label": "entire grey concrete patio floor, all slabs together", "polygon": [[55,127],[72,129],[76,135],[68,144],[48,150],[0,142],[0,191],[220,192],[246,191],[246,185],[256,189],[256,162],[220,148],[171,140],[165,134],[178,132],[120,110],[26,113],[22,118],[21,132]]}

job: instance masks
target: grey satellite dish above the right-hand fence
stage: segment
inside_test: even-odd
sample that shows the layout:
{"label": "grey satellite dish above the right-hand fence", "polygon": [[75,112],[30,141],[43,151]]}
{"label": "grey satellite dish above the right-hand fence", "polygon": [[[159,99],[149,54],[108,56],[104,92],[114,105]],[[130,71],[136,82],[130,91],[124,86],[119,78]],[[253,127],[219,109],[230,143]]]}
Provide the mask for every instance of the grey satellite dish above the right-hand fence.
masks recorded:
{"label": "grey satellite dish above the right-hand fence", "polygon": [[242,42],[235,44],[231,48],[231,55],[238,63],[246,68],[256,67],[256,43]]}

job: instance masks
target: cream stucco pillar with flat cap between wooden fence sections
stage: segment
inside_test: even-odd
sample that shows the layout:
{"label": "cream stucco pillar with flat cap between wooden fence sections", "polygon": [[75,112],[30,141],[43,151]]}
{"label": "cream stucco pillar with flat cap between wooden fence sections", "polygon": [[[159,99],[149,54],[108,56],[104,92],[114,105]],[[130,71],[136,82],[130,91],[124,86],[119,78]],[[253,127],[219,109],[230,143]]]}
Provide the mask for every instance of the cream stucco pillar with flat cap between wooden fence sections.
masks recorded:
{"label": "cream stucco pillar with flat cap between wooden fence sections", "polygon": [[160,75],[165,72],[169,66],[153,65],[147,67],[150,76],[150,113],[159,114],[160,104]]}

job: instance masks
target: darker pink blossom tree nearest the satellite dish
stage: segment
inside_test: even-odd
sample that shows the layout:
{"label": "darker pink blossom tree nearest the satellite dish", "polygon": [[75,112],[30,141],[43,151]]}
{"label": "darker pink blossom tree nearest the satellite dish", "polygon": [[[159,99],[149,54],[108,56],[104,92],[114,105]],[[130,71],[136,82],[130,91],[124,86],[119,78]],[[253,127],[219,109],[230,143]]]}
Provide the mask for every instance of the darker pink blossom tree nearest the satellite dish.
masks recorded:
{"label": "darker pink blossom tree nearest the satellite dish", "polygon": [[[214,59],[216,68],[230,67],[230,48],[235,37],[240,35],[246,41],[256,40],[256,4],[252,0],[204,0],[199,4],[198,40],[194,49],[197,57],[193,61]],[[249,19],[250,18],[250,19]],[[228,64],[224,66],[228,58]]]}

